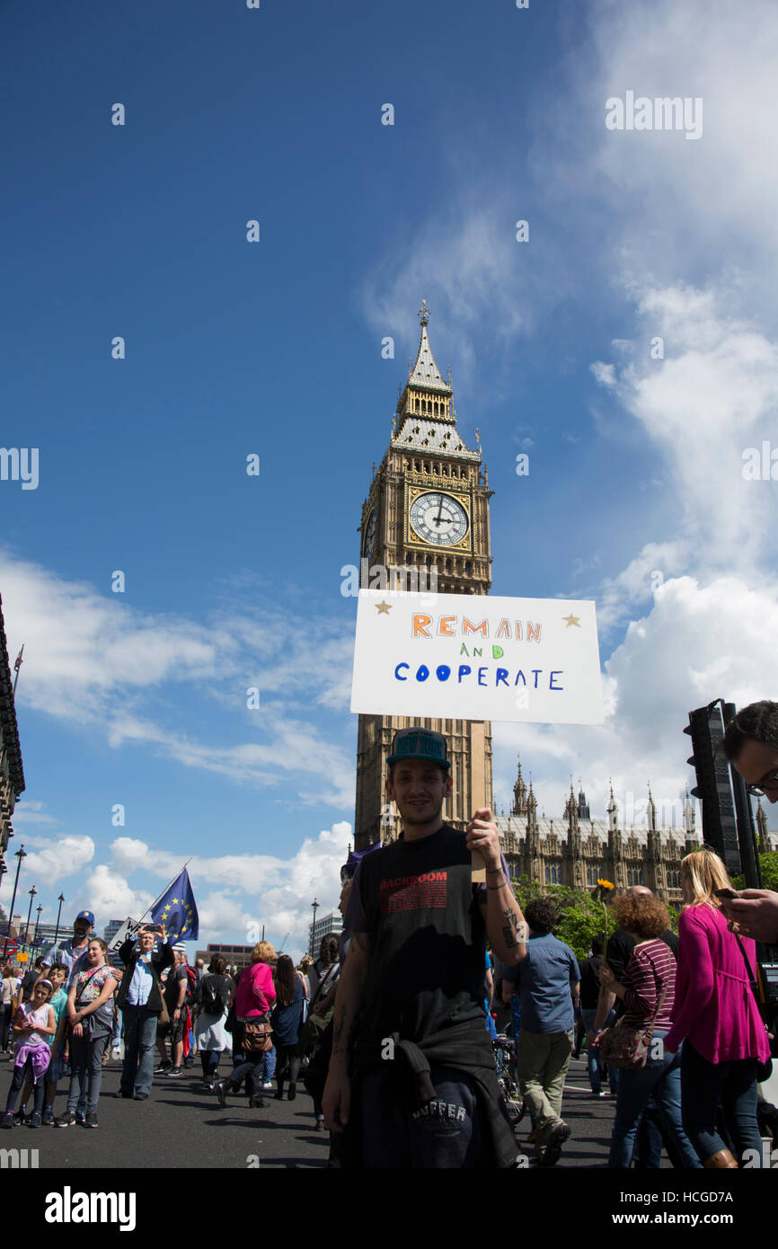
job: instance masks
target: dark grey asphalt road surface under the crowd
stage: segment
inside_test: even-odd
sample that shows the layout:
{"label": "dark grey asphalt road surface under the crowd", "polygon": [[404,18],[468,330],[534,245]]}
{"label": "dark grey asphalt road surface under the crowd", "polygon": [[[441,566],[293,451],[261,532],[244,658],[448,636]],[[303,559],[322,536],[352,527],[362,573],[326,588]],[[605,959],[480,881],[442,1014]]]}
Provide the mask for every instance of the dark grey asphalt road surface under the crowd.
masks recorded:
{"label": "dark grey asphalt road surface under the crowd", "polygon": [[[328,1135],[313,1130],[312,1100],[300,1088],[295,1102],[276,1102],[272,1092],[265,1110],[250,1110],[245,1097],[232,1097],[222,1109],[212,1093],[200,1088],[199,1068],[179,1079],[155,1077],[147,1102],[114,1098],[121,1064],[104,1068],[96,1130],[41,1128],[4,1132],[0,1147],[37,1149],[40,1168],[101,1169],[137,1167],[195,1168],[325,1168]],[[0,1062],[2,1105],[10,1084],[10,1063]],[[64,1114],[67,1082],[60,1084],[55,1113]],[[557,1170],[606,1168],[613,1100],[598,1100],[588,1090],[586,1064],[573,1059],[567,1078],[563,1115],[572,1128]],[[517,1133],[519,1152],[534,1167],[534,1150],[526,1144],[529,1120]],[[663,1159],[663,1167],[669,1167]]]}

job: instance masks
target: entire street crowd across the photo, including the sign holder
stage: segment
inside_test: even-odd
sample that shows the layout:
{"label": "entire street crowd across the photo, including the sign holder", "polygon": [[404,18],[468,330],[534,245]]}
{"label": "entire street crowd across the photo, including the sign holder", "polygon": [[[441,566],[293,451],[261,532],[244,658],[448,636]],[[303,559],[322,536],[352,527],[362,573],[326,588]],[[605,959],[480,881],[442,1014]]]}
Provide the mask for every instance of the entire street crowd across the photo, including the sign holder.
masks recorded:
{"label": "entire street crowd across the photo, including the sign holder", "polygon": [[[749,792],[778,802],[778,704],[744,708],[723,744]],[[539,1167],[571,1137],[564,1082],[583,1038],[592,1097],[616,1099],[611,1168],[657,1168],[663,1150],[688,1170],[769,1165],[761,1124],[776,1112],[759,1085],[776,1038],[754,939],[778,943],[778,894],[737,893],[702,847],[681,862],[677,934],[664,904],[634,887],[613,898],[616,931],[578,962],[553,934],[551,897],[522,914],[491,812],[476,811],[466,834],[443,822],[442,734],[400,729],[387,762],[402,834],[351,857],[343,932],[316,960],[295,968],[262,940],[240,973],[222,958],[191,968],[184,947],[145,926],[115,968],[82,912],[20,983],[6,968],[0,1048],[12,1035],[14,1075],[0,1125],[31,1098],[30,1127],[97,1127],[102,1065],[122,1035],[120,1098],[146,1099],[155,1074],[175,1079],[199,1054],[221,1105],[246,1095],[263,1108],[273,1072],[276,1098],[291,1102],[302,1079],[317,1130],[330,1130],[330,1165],[521,1165],[496,1078],[495,993],[511,1009]]]}

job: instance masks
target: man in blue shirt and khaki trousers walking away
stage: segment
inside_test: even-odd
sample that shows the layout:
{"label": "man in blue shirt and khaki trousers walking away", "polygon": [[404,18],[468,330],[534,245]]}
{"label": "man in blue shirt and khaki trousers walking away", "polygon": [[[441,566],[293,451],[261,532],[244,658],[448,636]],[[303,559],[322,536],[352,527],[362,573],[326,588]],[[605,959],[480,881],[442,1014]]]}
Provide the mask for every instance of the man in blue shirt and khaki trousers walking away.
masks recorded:
{"label": "man in blue shirt and khaki trousers walking away", "polygon": [[529,1139],[534,1142],[538,1165],[553,1167],[569,1137],[569,1127],[559,1112],[573,1048],[581,973],[569,945],[552,936],[557,909],[551,898],[529,902],[524,918],[529,940],[518,964],[506,968],[503,1000],[510,1000],[515,980],[521,997],[517,1075],[534,1119]]}

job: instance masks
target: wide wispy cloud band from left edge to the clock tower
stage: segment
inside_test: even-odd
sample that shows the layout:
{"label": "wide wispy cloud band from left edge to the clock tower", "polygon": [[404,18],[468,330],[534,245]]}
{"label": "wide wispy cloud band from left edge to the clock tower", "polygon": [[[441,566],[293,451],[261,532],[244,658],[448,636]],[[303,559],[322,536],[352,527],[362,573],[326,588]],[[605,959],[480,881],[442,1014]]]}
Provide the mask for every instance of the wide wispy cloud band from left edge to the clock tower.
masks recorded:
{"label": "wide wispy cloud band from left edge to the clock tower", "polygon": [[[296,641],[276,658],[280,618],[272,612],[222,613],[214,628],[170,615],[141,616],[115,596],[1,553],[0,581],[9,644],[25,641],[20,706],[92,724],[115,749],[135,743],[242,784],[277,787],[296,776],[295,801],[303,804],[353,802],[351,754],[295,714],[296,699],[305,711],[348,707],[352,642],[341,621],[306,621],[303,631],[285,620],[285,636]],[[257,654],[270,658],[257,666]],[[186,682],[189,693],[186,703],[177,693],[167,698],[166,714],[171,704],[180,708],[180,727],[145,713],[157,688],[174,682]],[[261,706],[250,712],[252,686]],[[272,697],[281,692],[283,706]],[[232,711],[236,734],[262,741],[225,747],[194,739],[184,728],[194,693]]]}

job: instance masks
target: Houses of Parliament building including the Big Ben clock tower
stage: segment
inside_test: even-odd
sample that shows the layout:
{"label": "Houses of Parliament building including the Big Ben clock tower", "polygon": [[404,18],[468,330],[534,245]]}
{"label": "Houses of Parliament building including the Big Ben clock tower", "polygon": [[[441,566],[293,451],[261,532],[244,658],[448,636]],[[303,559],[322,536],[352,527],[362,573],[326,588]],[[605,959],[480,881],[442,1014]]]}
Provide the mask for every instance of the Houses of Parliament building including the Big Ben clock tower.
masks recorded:
{"label": "Houses of Parliament building including the Big Ben clock tower", "polygon": [[[428,585],[425,577],[435,568],[441,593],[487,595],[492,583],[492,491],[478,431],[476,447],[468,447],[457,430],[451,377],[442,376],[432,355],[426,302],[420,316],[416,363],[408,370],[390,445],[362,505],[361,567],[365,572],[376,566],[416,572],[420,586]],[[357,851],[396,836],[397,814],[385,796],[386,759],[397,729],[412,723],[418,721],[403,716],[358,717]],[[492,726],[488,721],[440,718],[422,723],[446,737],[453,791],[443,806],[443,817],[455,828],[465,829],[476,808],[495,809]],[[527,787],[522,779],[521,766],[511,812],[496,819],[513,878],[526,876],[541,884],[587,888],[604,877],[617,889],[646,884],[673,903],[681,902],[681,859],[702,842],[688,798],[682,828],[657,827],[651,793],[647,823],[624,828],[612,791],[607,819],[592,819],[583,792],[576,798],[571,783],[563,814],[538,818],[537,799],[532,784]],[[757,823],[759,848],[769,849],[771,834],[761,806]]]}

